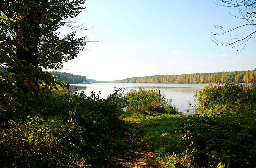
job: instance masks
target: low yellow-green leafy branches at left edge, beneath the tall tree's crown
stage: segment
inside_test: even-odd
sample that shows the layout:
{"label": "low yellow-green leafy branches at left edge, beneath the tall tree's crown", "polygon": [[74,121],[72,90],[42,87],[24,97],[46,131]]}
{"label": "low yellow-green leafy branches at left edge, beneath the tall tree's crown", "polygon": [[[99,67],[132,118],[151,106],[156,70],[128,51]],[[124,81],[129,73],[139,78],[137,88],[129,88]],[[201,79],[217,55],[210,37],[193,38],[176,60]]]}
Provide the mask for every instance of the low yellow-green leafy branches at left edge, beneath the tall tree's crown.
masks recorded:
{"label": "low yellow-green leafy branches at left edge, beneath the tall tree's crown", "polygon": [[28,115],[40,109],[38,104],[47,97],[48,90],[69,87],[68,83],[56,80],[52,74],[44,73],[31,63],[23,65],[8,56],[0,57],[0,63],[4,71],[0,74],[0,110],[1,113],[8,111],[3,116]]}

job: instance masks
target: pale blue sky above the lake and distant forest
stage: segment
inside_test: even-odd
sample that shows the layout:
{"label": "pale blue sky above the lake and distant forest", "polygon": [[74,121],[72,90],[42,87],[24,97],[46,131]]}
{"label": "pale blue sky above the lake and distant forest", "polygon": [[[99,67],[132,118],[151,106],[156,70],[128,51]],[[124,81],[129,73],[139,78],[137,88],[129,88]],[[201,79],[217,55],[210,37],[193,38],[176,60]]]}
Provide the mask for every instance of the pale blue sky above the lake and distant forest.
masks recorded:
{"label": "pale blue sky above the lake and distant forest", "polygon": [[[74,21],[89,30],[87,51],[64,63],[61,72],[84,75],[98,81],[130,77],[243,71],[256,68],[256,34],[233,50],[216,46],[211,34],[222,33],[214,25],[228,30],[246,23],[234,16],[238,9],[212,1],[135,1],[87,0],[86,9]],[[244,28],[233,35],[244,35],[255,27]],[[61,34],[70,32],[60,29]],[[223,43],[230,36],[218,36]]]}

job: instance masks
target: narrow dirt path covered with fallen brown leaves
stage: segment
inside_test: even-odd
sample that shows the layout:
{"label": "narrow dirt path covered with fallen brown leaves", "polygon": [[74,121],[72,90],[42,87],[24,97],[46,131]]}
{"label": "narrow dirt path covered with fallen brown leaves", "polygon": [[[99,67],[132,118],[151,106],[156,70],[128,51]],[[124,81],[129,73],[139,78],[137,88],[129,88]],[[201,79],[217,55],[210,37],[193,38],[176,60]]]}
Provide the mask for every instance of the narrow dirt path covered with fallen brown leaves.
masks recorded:
{"label": "narrow dirt path covered with fallen brown leaves", "polygon": [[139,124],[132,123],[134,126],[131,131],[125,132],[123,141],[129,144],[130,148],[126,149],[119,156],[113,158],[113,166],[115,167],[157,167],[153,163],[153,159],[156,157],[153,151],[147,147],[142,141],[142,135],[140,132]]}

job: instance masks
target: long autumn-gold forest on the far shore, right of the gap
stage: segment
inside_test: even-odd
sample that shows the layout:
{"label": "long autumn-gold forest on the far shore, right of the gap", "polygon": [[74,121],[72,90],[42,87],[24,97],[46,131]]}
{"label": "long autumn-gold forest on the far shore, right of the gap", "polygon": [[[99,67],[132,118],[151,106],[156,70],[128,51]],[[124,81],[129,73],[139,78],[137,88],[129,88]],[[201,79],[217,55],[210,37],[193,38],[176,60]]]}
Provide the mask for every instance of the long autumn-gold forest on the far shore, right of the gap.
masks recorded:
{"label": "long autumn-gold forest on the far shore, right of the gap", "polygon": [[252,71],[155,75],[114,80],[111,83],[255,83],[256,68]]}

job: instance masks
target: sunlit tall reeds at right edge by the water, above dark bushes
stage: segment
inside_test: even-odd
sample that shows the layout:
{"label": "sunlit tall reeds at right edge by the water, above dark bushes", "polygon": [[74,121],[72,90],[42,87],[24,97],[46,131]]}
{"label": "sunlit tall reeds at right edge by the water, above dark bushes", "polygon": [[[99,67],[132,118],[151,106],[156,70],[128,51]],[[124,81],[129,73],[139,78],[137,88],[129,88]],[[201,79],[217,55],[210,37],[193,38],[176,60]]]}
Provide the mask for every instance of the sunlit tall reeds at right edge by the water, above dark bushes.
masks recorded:
{"label": "sunlit tall reeds at right edge by the water, above dark bushes", "polygon": [[196,108],[200,114],[223,113],[222,109],[228,109],[236,104],[256,103],[255,85],[209,85],[200,89],[195,94]]}

